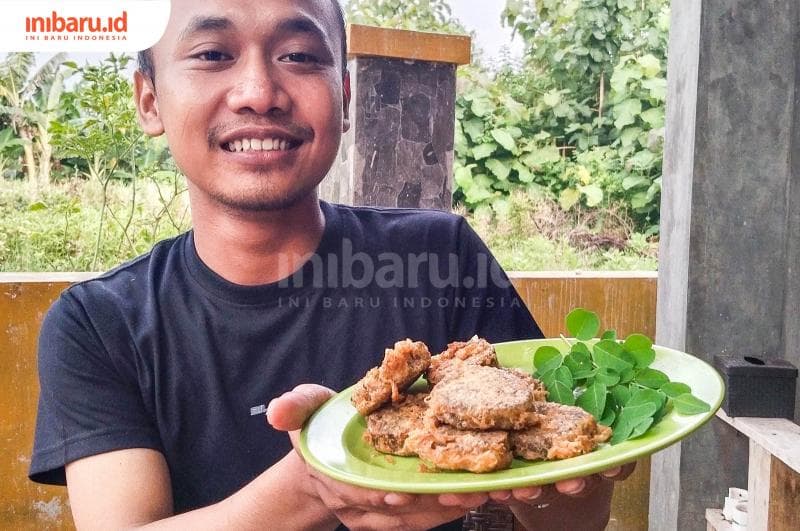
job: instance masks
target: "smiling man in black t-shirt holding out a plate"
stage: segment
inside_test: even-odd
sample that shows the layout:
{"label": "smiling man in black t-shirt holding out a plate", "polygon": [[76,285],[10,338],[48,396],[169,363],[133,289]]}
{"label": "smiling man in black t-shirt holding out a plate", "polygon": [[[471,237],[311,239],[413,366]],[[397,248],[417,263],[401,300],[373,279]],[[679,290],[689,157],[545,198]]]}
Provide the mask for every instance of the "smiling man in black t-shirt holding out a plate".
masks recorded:
{"label": "smiling man in black t-shirt holding out a plate", "polygon": [[[294,444],[332,393],[317,384],[354,383],[395,340],[540,334],[460,218],[319,202],[349,126],[344,47],[332,0],[172,2],[135,95],[187,176],[193,231],[67,290],[40,337],[31,477],[66,481],[79,528],[425,529],[489,496],[531,524],[607,520],[599,476],[370,491],[279,433]],[[266,403],[275,429],[251,415]]]}

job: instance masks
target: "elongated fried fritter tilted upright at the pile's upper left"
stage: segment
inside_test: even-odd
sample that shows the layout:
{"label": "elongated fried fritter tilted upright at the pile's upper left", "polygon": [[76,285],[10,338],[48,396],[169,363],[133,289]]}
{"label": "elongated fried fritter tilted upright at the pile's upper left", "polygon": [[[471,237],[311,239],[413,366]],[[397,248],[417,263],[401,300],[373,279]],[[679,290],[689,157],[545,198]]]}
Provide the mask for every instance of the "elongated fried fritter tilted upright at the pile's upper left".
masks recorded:
{"label": "elongated fried fritter tilted upright at the pile's upper left", "polygon": [[368,415],[387,403],[397,402],[401,392],[419,378],[431,362],[431,353],[421,341],[405,339],[387,348],[380,367],[370,369],[353,389],[351,401],[359,413]]}

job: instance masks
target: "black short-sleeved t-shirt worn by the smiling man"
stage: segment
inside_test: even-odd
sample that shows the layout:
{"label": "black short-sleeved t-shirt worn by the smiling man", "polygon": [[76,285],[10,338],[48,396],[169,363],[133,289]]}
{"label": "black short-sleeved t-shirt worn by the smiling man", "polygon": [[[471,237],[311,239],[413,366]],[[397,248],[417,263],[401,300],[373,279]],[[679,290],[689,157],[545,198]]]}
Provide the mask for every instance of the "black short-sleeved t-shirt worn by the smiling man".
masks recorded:
{"label": "black short-sleeved t-shirt worn by the smiling man", "polygon": [[65,290],[42,325],[30,477],[123,448],[163,453],[175,511],[217,502],[290,449],[264,406],[304,382],[341,390],[406,337],[432,352],[541,332],[460,217],[321,203],[325,231],[294,275],[232,284],[192,233]]}

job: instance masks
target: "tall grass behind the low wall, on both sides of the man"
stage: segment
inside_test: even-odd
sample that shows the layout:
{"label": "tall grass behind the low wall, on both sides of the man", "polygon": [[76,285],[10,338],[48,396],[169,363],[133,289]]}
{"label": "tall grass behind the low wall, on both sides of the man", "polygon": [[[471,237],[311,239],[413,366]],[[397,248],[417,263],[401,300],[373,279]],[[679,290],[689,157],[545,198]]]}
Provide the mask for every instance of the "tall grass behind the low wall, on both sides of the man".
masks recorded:
{"label": "tall grass behind the low wall, on both sides of the man", "polygon": [[[190,227],[183,178],[112,182],[70,179],[35,192],[0,180],[0,271],[104,271]],[[106,213],[101,225],[105,193]],[[632,232],[621,211],[564,212],[517,193],[502,214],[467,213],[507,270],[655,270],[657,244]]]}

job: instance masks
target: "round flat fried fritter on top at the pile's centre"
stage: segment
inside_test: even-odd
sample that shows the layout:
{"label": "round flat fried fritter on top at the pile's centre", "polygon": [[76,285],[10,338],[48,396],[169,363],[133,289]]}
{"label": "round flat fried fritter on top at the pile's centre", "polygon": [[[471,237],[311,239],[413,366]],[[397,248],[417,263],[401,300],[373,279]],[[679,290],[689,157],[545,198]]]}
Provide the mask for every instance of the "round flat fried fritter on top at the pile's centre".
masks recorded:
{"label": "round flat fried fritter on top at the pile's centre", "polygon": [[494,367],[472,366],[431,391],[428,406],[438,422],[461,430],[521,430],[538,421],[530,379]]}

